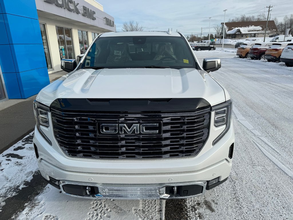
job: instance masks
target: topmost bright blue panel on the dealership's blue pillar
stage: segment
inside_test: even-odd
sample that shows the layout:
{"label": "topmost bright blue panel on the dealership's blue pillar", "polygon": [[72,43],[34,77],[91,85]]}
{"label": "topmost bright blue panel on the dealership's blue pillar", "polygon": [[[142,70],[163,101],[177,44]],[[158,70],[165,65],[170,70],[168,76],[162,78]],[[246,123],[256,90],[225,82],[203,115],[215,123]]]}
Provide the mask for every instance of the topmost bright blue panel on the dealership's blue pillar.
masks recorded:
{"label": "topmost bright blue panel on the dealership's blue pillar", "polygon": [[2,13],[38,19],[35,0],[0,0]]}

